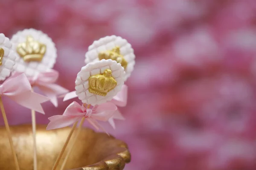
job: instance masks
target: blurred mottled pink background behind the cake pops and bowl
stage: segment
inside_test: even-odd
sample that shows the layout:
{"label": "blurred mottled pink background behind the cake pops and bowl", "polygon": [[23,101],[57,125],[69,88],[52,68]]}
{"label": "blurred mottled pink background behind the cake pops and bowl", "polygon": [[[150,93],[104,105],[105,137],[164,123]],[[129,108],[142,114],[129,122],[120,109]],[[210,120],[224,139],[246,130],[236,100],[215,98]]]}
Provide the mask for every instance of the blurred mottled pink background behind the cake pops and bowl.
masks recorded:
{"label": "blurred mottled pink background behind the cake pops and bowl", "polygon": [[[126,120],[105,124],[130,147],[125,170],[256,170],[255,0],[1,0],[0,32],[24,28],[52,37],[58,83],[70,91],[93,40],[131,43]],[[31,122],[4,102],[12,125]],[[37,122],[72,101],[59,102]]]}

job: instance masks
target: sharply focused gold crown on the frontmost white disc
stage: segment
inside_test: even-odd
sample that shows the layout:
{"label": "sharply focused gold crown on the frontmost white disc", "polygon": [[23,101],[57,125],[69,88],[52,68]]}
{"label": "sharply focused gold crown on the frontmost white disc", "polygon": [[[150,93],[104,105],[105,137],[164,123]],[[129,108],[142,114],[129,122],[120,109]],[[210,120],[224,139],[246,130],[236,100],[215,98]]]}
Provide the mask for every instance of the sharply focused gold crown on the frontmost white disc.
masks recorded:
{"label": "sharply focused gold crown on the frontmost white disc", "polygon": [[89,78],[89,92],[92,94],[106,96],[109,91],[116,87],[116,80],[111,77],[112,71],[106,69],[103,74],[97,74]]}

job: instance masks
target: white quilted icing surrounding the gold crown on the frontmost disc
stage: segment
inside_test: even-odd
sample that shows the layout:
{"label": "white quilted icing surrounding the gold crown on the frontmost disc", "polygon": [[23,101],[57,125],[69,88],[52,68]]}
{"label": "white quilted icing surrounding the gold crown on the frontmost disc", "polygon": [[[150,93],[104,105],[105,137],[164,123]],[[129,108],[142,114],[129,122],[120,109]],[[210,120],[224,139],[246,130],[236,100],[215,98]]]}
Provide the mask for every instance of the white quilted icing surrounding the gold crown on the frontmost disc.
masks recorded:
{"label": "white quilted icing surrounding the gold crown on the frontmost disc", "polygon": [[[96,74],[103,74],[106,69],[112,71],[112,77],[116,80],[116,87],[109,91],[106,96],[100,96],[89,92],[88,79]],[[83,102],[90,105],[99,105],[110,101],[113,96],[121,91],[124,85],[125,71],[121,64],[111,59],[102,59],[100,61],[90,62],[81,68],[76,77],[76,95]]]}

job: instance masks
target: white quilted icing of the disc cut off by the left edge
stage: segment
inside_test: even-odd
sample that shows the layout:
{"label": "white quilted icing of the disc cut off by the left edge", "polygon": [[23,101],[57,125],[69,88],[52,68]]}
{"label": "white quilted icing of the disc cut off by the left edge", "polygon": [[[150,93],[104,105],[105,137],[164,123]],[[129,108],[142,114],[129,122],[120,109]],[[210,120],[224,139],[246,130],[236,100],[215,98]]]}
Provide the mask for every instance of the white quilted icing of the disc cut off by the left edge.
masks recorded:
{"label": "white quilted icing of the disc cut off by the left edge", "polygon": [[4,34],[0,34],[0,48],[4,50],[2,65],[0,65],[0,80],[5,80],[11,74],[15,65],[16,55],[12,50],[12,43]]}

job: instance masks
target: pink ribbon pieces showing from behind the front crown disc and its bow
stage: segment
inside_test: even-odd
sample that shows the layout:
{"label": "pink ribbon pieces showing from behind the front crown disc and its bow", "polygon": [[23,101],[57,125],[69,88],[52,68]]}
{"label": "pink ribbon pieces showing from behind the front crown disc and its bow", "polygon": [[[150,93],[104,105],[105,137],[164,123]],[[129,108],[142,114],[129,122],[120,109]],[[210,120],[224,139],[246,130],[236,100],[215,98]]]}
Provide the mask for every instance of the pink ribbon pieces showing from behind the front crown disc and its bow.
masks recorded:
{"label": "pink ribbon pieces showing from behind the front crown disc and its bow", "polygon": [[[127,85],[123,85],[121,91],[119,91],[118,94],[116,94],[116,96],[113,97],[111,102],[114,103],[116,106],[125,107],[127,104],[127,96],[128,96],[127,94],[128,94],[128,87]],[[73,99],[77,97],[76,91],[71,91],[66,95],[62,95],[60,97],[63,97],[63,96],[64,96],[63,101],[67,101],[69,99]],[[113,116],[108,120],[110,125],[115,129],[116,125],[115,125],[114,119],[124,120],[125,118],[122,116],[122,113],[116,110]]]}

